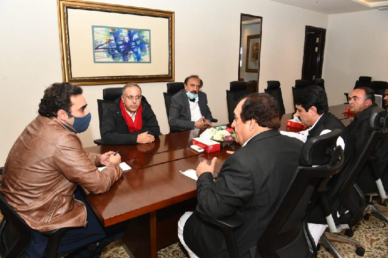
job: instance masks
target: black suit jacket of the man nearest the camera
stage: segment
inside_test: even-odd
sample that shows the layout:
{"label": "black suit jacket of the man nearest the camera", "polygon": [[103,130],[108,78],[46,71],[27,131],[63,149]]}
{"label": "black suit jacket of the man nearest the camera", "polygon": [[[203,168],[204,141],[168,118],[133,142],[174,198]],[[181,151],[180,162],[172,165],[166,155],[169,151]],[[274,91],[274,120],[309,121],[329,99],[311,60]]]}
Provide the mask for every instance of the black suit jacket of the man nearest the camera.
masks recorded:
{"label": "black suit jacket of the man nearest the camera", "polygon": [[[240,257],[249,257],[291,184],[303,142],[280,135],[276,129],[262,132],[229,156],[213,182],[211,173],[197,181],[197,199],[213,218],[233,215],[242,220],[234,234]],[[199,257],[227,257],[220,229],[194,212],[183,229],[185,243]]]}

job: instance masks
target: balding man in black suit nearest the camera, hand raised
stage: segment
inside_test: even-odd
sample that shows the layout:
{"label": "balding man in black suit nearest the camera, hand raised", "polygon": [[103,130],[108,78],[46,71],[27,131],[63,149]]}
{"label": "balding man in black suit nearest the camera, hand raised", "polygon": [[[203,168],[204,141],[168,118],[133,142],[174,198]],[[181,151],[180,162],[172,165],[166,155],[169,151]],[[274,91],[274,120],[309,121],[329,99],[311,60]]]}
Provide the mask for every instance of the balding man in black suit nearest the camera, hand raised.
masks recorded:
{"label": "balding man in black suit nearest the camera, hand raised", "polygon": [[[210,217],[235,216],[244,223],[234,234],[240,257],[250,257],[259,236],[285,196],[299,164],[303,143],[282,136],[276,101],[266,93],[242,99],[234,110],[232,127],[242,148],[229,156],[213,181],[211,164],[196,168],[197,199]],[[190,257],[226,257],[220,229],[205,223],[196,212],[178,222],[178,237]]]}

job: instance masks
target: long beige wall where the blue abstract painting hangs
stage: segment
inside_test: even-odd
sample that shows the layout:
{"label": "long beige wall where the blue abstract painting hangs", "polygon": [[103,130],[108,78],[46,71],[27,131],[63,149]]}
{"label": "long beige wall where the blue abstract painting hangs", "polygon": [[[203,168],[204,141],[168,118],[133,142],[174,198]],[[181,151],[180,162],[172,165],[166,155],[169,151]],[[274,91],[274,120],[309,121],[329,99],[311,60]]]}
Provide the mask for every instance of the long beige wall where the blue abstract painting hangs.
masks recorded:
{"label": "long beige wall where the blue abstract painting hangs", "polygon": [[[328,24],[328,15],[269,0],[104,2],[175,12],[175,80],[183,81],[191,74],[201,76],[219,124],[227,122],[225,90],[238,78],[241,13],[263,17],[259,91],[266,88],[267,80],[279,80],[286,112],[292,111],[291,86],[301,76],[305,26],[326,28]],[[44,89],[62,81],[62,68],[55,0],[1,1],[0,26],[1,167],[18,135],[37,115]],[[334,44],[334,39],[330,41],[326,47]],[[80,134],[85,147],[99,138],[96,99],[102,97],[103,88],[118,86],[122,85],[83,87],[92,113],[90,128]],[[165,83],[141,86],[162,133],[168,133],[162,95]]]}

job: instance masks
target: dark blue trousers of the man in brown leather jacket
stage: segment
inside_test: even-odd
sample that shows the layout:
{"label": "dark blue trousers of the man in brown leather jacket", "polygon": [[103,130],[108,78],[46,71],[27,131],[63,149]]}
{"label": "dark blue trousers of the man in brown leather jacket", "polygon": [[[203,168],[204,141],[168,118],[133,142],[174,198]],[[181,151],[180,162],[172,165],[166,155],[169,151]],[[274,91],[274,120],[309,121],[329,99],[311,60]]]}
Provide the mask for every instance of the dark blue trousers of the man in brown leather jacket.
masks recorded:
{"label": "dark blue trousers of the man in brown leather jacket", "polygon": [[[58,254],[77,250],[72,253],[71,257],[79,258],[98,258],[101,255],[102,249],[116,239],[120,239],[127,229],[128,222],[124,221],[116,225],[104,228],[98,221],[86,199],[81,194],[81,188],[77,188],[74,193],[74,198],[82,201],[86,206],[87,226],[86,228],[74,228],[66,231],[62,236],[58,248]],[[97,243],[93,248],[88,248],[88,245]],[[23,257],[38,258],[44,257],[48,238],[36,230],[32,230],[32,239],[29,246],[26,248]],[[95,248],[94,248],[95,247]],[[91,249],[91,250],[89,250]],[[94,250],[93,250],[94,249]]]}

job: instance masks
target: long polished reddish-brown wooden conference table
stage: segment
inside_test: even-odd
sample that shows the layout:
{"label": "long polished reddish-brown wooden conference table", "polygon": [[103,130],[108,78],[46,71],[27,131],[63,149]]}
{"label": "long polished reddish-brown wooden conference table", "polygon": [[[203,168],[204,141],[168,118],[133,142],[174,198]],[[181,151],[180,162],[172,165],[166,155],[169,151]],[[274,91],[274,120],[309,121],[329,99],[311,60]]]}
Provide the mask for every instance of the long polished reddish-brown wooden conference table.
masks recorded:
{"label": "long polished reddish-brown wooden conference table", "polygon": [[[329,112],[345,125],[351,115],[344,113],[348,105],[331,106]],[[291,114],[281,117],[279,130],[299,132],[287,126]],[[180,171],[194,169],[197,165],[217,157],[218,172],[230,155],[240,145],[233,143],[218,152],[198,153],[190,148],[192,138],[199,137],[199,129],[162,135],[150,144],[100,145],[84,148],[85,152],[105,153],[120,150],[122,162],[131,170],[115,182],[104,194],[85,197],[105,226],[129,221],[122,240],[136,258],[157,258],[159,249],[178,241],[178,219],[196,206],[196,181]],[[216,173],[214,175],[216,177]]]}

